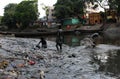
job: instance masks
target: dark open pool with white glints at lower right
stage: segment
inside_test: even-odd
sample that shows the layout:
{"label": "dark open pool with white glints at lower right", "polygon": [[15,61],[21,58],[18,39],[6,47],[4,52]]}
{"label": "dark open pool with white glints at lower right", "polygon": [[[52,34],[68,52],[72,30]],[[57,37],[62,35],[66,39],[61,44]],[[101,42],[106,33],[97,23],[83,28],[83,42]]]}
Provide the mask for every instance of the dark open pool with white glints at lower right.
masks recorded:
{"label": "dark open pool with white glints at lower right", "polygon": [[[99,67],[96,72],[104,72],[106,75],[119,76],[120,75],[120,50],[110,50],[106,52],[107,55],[102,56],[99,54],[92,55],[92,63],[98,64]],[[118,77],[120,78],[120,77]]]}

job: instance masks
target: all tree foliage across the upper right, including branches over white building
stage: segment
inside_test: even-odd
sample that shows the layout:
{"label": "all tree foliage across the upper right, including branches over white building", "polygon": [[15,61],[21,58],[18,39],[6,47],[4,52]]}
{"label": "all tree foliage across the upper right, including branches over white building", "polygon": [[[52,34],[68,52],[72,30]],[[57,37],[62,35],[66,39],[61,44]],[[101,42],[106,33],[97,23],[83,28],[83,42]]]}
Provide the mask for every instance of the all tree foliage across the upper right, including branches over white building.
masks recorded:
{"label": "all tree foliage across the upper right, including branches over white building", "polygon": [[[93,9],[100,6],[104,9],[104,21],[106,21],[106,11],[109,6],[109,10],[115,10],[117,15],[120,16],[120,0],[57,0],[55,4],[55,16],[57,19],[64,19],[70,17],[78,17],[84,13],[86,6],[84,4],[92,3]],[[96,4],[97,3],[97,4]]]}

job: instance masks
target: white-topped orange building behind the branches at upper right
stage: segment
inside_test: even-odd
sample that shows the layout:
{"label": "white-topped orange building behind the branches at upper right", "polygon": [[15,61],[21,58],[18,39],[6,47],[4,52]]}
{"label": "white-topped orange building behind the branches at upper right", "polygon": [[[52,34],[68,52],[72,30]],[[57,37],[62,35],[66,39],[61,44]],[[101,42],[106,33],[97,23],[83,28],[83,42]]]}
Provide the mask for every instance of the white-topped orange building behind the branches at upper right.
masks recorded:
{"label": "white-topped orange building behind the branches at upper right", "polygon": [[[85,3],[86,5],[86,17],[87,17],[87,24],[99,24],[102,22],[102,18],[100,15],[100,12],[104,11],[97,3]],[[94,8],[95,5],[98,5],[98,7]]]}

